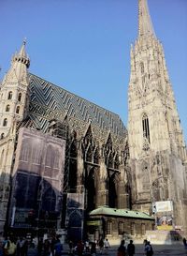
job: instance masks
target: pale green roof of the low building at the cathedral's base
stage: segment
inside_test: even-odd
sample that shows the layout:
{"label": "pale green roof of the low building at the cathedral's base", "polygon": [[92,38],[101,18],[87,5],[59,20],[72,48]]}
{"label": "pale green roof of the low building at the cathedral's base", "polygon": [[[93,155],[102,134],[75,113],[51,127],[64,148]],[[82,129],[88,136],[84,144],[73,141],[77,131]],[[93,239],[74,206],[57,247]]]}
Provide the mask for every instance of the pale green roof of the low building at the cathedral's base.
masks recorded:
{"label": "pale green roof of the low building at the cathedral's base", "polygon": [[107,206],[101,206],[97,209],[93,210],[90,213],[90,216],[96,215],[108,215],[108,216],[118,216],[118,217],[126,217],[126,218],[146,218],[146,219],[154,219],[150,215],[139,212],[132,211],[128,209],[116,209],[116,208],[108,208]]}

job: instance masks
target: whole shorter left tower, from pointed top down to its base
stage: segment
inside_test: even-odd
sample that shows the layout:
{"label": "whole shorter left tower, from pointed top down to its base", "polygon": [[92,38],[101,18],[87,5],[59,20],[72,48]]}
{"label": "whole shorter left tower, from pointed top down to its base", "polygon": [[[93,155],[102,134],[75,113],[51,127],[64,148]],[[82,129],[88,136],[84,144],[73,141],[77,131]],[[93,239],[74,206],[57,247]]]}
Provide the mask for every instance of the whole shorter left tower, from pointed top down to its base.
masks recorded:
{"label": "whole shorter left tower, from pointed top down to its base", "polygon": [[29,65],[23,41],[20,52],[12,57],[11,67],[0,86],[0,232],[4,230],[7,220],[16,124],[26,117],[29,105]]}

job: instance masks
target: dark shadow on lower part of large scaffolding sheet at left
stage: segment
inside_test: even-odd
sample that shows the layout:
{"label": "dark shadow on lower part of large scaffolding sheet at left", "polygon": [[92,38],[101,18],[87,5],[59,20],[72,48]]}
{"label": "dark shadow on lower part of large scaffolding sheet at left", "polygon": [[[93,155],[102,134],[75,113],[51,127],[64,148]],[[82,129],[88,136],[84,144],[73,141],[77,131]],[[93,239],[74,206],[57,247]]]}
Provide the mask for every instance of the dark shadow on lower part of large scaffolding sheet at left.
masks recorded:
{"label": "dark shadow on lower part of large scaffolding sheet at left", "polygon": [[62,200],[47,179],[18,170],[12,178],[6,232],[52,233],[61,227]]}

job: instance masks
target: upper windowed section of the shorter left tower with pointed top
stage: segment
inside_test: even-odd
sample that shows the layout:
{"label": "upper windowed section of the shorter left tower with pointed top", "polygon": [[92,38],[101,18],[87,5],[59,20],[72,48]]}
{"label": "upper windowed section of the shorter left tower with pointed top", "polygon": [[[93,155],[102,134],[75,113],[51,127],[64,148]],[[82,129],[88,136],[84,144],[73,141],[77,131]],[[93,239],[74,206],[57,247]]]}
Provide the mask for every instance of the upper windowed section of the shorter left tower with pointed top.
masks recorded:
{"label": "upper windowed section of the shorter left tower with pointed top", "polygon": [[25,53],[23,41],[20,53],[12,57],[8,70],[0,87],[0,138],[7,136],[14,121],[22,121],[29,103],[27,68],[30,60]]}

